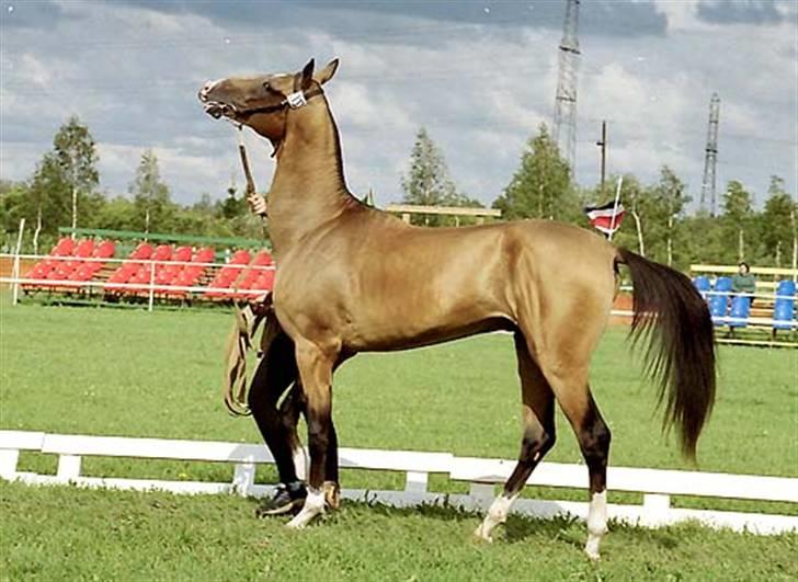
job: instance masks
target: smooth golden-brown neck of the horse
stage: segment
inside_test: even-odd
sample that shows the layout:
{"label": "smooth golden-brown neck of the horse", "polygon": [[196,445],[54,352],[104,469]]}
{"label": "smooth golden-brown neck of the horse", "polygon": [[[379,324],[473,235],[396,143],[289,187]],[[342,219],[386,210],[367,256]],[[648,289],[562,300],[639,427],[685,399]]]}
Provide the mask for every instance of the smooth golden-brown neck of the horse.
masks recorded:
{"label": "smooth golden-brown neck of the horse", "polygon": [[278,255],[340,217],[354,202],[344,182],[338,129],[327,103],[290,112],[286,123],[269,192],[270,236]]}

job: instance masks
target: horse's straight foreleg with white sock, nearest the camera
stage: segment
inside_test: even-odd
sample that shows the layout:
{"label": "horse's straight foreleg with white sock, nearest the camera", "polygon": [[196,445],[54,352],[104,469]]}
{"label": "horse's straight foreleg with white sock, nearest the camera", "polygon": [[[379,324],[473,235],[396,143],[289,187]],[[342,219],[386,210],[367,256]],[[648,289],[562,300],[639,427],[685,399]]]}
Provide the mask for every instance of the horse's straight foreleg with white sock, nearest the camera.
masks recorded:
{"label": "horse's straight foreleg with white sock, nearest the camera", "polygon": [[332,430],[332,368],[338,353],[324,353],[310,342],[297,344],[296,362],[307,400],[308,448],[310,471],[308,497],[303,510],[288,522],[288,527],[305,527],[324,512],[323,486],[328,470],[328,452]]}

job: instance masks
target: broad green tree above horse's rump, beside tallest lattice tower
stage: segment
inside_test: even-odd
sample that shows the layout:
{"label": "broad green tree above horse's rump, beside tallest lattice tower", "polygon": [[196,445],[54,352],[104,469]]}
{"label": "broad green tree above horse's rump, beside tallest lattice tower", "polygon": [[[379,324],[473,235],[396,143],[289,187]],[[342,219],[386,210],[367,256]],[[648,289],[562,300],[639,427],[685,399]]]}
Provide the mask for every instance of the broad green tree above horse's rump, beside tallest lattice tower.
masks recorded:
{"label": "broad green tree above horse's rump, beside tallest lattice tower", "polygon": [[557,144],[540,124],[529,138],[504,193],[493,203],[506,219],[549,218],[565,220],[572,216],[575,196],[571,187],[568,163],[560,157]]}

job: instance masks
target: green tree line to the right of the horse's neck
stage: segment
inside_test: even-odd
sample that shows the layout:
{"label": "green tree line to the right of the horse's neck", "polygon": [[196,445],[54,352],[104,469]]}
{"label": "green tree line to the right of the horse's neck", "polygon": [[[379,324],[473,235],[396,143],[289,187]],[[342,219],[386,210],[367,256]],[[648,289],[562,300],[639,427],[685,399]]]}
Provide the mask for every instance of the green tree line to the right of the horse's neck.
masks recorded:
{"label": "green tree line to the right of the horse's neck", "polygon": [[[493,202],[493,208],[502,210],[502,219],[554,219],[591,228],[584,207],[612,202],[617,178],[609,176],[604,192],[601,184],[577,184],[548,128],[542,124],[525,144],[518,168]],[[402,187],[406,203],[474,203],[461,193],[453,197],[456,189],[443,153],[424,129],[417,135]],[[680,269],[693,263],[740,261],[760,266],[791,266],[798,252],[798,204],[785,190],[782,178],[771,176],[761,209],[754,204],[754,193],[739,180],[729,181],[717,216],[688,212],[692,199],[687,184],[668,166],[662,166],[651,183],[624,174],[620,202],[627,214],[613,241]],[[415,220],[421,222],[423,218]]]}

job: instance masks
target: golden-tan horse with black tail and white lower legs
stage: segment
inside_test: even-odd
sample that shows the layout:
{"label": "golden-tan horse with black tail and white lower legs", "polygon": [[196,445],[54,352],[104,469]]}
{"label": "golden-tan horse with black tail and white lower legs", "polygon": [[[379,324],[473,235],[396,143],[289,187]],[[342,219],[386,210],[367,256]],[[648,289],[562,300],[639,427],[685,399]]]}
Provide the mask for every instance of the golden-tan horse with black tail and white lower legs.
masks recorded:
{"label": "golden-tan horse with black tail and white lower legs", "polygon": [[[634,343],[646,343],[663,429],[677,427],[688,459],[695,459],[716,391],[705,301],[684,274],[575,226],[520,220],[424,228],[364,205],[346,186],[323,89],[337,69],[335,59],[316,71],[311,59],[298,72],[230,77],[198,92],[206,113],[250,127],[274,148],[267,206],[278,265],[273,309],[285,338],[272,360],[296,366],[310,455],[307,499],[287,526],[301,528],[322,514],[324,481],[337,479],[332,379],[339,365],[360,352],[506,331],[514,336],[521,380],[521,450],[475,535],[492,540],[555,445],[558,403],[588,467],[584,550],[597,559],[607,532],[611,433],[591,393],[589,370],[618,292],[619,266],[628,267],[632,281],[630,334]],[[292,374],[281,375],[271,384],[285,388]],[[255,395],[250,402],[276,398]],[[288,433],[264,435],[284,466],[295,446]]]}

